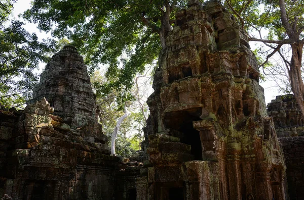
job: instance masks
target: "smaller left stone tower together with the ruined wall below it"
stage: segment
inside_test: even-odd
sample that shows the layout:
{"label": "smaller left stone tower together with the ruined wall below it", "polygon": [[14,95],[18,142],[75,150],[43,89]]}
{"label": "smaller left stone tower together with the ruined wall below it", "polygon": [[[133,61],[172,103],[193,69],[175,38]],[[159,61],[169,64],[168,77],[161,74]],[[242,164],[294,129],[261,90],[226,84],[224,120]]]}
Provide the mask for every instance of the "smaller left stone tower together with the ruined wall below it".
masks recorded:
{"label": "smaller left stone tower together with the ruined wall below it", "polygon": [[132,171],[109,156],[77,49],[65,46],[53,56],[33,96],[22,111],[0,109],[0,196],[126,199],[124,189],[134,193],[140,167]]}

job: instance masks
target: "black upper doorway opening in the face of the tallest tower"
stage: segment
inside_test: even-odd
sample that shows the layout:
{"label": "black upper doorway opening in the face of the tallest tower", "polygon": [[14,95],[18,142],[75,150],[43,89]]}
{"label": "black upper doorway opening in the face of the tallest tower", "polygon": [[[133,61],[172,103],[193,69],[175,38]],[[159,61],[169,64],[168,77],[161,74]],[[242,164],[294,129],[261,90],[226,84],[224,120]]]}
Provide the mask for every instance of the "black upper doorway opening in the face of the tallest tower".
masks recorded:
{"label": "black upper doorway opening in the face of the tallest tower", "polygon": [[179,137],[180,142],[191,145],[191,154],[195,160],[202,160],[202,142],[200,132],[193,128],[193,122],[201,118],[201,108],[187,111],[165,113],[165,127],[169,135]]}

